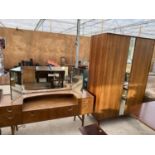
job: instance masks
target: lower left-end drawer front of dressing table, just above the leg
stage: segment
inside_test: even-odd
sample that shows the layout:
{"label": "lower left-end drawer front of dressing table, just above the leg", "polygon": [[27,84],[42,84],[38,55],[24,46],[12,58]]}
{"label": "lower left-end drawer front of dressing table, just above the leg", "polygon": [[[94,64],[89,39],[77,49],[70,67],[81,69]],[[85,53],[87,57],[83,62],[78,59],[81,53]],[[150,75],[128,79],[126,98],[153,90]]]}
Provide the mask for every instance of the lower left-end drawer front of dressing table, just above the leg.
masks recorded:
{"label": "lower left-end drawer front of dressing table, just above the leg", "polygon": [[17,125],[21,123],[21,114],[5,114],[0,116],[0,127]]}

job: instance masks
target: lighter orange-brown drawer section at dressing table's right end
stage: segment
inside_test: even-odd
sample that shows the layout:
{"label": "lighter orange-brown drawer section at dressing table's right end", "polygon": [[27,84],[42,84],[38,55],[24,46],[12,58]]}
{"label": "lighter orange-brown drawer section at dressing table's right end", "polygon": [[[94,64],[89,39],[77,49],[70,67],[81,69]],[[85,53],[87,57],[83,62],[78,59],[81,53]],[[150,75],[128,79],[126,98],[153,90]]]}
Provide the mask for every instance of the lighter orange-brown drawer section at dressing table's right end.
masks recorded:
{"label": "lighter orange-brown drawer section at dressing table's right end", "polygon": [[82,99],[79,102],[79,114],[93,113],[94,101],[92,98]]}

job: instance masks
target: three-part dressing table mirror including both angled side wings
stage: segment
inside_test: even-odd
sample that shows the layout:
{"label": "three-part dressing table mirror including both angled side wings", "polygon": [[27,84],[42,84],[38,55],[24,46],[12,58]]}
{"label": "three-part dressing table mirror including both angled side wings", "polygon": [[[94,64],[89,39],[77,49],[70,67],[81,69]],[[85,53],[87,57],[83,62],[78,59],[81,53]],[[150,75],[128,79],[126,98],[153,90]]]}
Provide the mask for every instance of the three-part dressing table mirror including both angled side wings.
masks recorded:
{"label": "three-part dressing table mirror including both angled side wings", "polygon": [[10,70],[13,100],[22,94],[42,91],[81,91],[87,88],[88,67],[21,66]]}

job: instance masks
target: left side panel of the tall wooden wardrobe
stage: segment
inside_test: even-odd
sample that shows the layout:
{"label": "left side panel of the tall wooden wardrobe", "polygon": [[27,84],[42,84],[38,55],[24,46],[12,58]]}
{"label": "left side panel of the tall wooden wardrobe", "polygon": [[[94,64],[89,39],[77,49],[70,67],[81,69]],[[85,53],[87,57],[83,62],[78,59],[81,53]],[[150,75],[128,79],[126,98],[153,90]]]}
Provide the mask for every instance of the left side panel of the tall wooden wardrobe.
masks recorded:
{"label": "left side panel of the tall wooden wardrobe", "polygon": [[100,107],[99,94],[101,95],[102,92],[101,78],[104,76],[104,72],[101,69],[105,65],[106,41],[106,34],[92,36],[91,39],[88,90],[96,97],[95,111]]}

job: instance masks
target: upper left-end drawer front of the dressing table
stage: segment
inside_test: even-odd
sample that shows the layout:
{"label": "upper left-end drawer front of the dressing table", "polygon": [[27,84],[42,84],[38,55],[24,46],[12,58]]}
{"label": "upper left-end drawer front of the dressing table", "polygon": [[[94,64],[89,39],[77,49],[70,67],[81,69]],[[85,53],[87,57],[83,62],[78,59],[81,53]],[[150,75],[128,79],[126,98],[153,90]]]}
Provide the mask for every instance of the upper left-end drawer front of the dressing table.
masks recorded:
{"label": "upper left-end drawer front of the dressing table", "polygon": [[22,108],[19,105],[0,107],[0,116],[6,114],[17,114],[21,113],[21,111]]}

